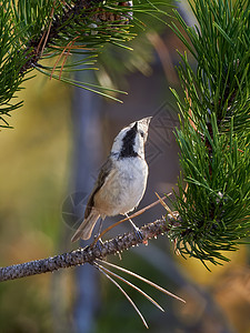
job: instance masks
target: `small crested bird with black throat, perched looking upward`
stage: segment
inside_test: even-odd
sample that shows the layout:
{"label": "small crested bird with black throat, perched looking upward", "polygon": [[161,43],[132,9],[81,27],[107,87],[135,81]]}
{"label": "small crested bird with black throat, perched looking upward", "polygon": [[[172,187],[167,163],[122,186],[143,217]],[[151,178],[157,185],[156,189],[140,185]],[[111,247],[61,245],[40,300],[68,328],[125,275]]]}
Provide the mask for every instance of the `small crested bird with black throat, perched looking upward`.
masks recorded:
{"label": "small crested bird with black throat, perched looking upward", "polygon": [[[88,199],[84,219],[71,242],[90,239],[99,218],[101,218],[100,234],[106,216],[119,214],[128,216],[128,213],[139,205],[147,188],[149,173],[144,145],[151,118],[133,121],[116,137],[111,152],[101,167]],[[130,222],[138,232],[139,229],[132,220]]]}

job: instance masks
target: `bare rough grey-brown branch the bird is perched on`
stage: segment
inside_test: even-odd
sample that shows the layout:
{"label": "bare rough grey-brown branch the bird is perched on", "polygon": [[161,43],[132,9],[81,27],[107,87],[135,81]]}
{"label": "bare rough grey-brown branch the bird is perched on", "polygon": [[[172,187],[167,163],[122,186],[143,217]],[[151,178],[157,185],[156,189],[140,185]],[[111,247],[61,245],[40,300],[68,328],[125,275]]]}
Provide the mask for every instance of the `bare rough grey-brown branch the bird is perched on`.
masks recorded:
{"label": "bare rough grey-brown branch the bird is perched on", "polygon": [[179,222],[168,214],[166,220],[157,220],[148,223],[140,229],[143,240],[139,241],[133,232],[119,235],[112,240],[106,241],[103,245],[87,246],[78,250],[50,256],[47,259],[34,260],[21,264],[0,268],[0,282],[8,280],[16,280],[20,278],[42,274],[47,272],[58,271],[59,269],[67,269],[84,263],[92,263],[96,259],[103,259],[107,255],[116,254],[123,250],[139,244],[147,243],[148,240],[157,238],[160,234],[168,233],[172,225]]}

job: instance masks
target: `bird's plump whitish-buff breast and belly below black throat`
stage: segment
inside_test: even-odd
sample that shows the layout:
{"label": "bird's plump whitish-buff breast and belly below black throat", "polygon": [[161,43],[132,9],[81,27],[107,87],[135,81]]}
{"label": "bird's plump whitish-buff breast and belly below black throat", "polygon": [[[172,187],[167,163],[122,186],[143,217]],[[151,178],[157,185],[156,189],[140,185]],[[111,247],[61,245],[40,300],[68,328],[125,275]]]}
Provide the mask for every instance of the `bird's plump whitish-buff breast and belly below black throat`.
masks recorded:
{"label": "bird's plump whitish-buff breast and belly below black throat", "polygon": [[148,179],[148,164],[141,158],[114,159],[113,168],[94,198],[102,215],[132,211],[141,201]]}

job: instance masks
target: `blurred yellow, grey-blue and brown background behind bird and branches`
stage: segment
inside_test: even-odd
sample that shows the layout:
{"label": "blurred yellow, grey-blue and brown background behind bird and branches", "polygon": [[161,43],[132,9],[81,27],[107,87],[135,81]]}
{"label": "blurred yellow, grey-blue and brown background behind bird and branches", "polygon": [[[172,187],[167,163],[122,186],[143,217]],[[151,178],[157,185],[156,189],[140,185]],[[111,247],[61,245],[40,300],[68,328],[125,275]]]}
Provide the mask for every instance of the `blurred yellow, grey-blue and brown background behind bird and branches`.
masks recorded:
{"label": "blurred yellow, grey-blue and brown background behind bird and branches", "polygon": [[[193,18],[181,2],[181,13]],[[109,154],[124,125],[152,115],[147,160],[148,188],[139,209],[169,193],[179,175],[178,148],[172,131],[178,109],[169,87],[179,90],[176,50],[182,46],[170,29],[147,19],[133,52],[106,48],[100,71],[83,79],[128,92],[123,103],[50,81],[38,74],[19,98],[24,107],[12,114],[13,130],[0,132],[0,260],[11,265],[71,251],[70,239]],[[156,27],[154,30],[150,27]],[[79,75],[79,74],[78,74]],[[77,78],[77,79],[82,79]],[[158,205],[134,219],[142,225],[164,214]],[[106,219],[104,226],[119,221]],[[129,223],[107,238],[130,231]],[[87,245],[82,242],[81,245]],[[249,248],[231,253],[231,262],[210,266],[174,254],[160,236],[108,261],[152,280],[187,301],[182,304],[147,284],[133,283],[153,296],[161,313],[134,290],[124,286],[144,315],[150,332],[250,332]],[[126,275],[122,275],[126,276]],[[120,291],[94,268],[84,265],[52,274],[0,284],[0,332],[144,332],[144,326]]]}

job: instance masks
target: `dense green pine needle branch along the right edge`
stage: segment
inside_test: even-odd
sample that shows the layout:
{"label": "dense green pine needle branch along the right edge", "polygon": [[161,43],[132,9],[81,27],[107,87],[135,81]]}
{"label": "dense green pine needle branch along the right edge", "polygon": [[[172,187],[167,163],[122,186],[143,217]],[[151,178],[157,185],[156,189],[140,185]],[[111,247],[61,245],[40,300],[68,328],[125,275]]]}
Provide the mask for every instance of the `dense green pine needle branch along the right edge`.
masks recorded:
{"label": "dense green pine needle branch along the right edge", "polygon": [[250,3],[246,0],[190,1],[199,26],[172,29],[194,57],[180,54],[186,99],[177,142],[182,173],[171,231],[177,249],[206,264],[229,261],[250,234]]}

